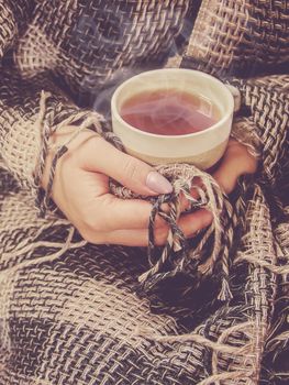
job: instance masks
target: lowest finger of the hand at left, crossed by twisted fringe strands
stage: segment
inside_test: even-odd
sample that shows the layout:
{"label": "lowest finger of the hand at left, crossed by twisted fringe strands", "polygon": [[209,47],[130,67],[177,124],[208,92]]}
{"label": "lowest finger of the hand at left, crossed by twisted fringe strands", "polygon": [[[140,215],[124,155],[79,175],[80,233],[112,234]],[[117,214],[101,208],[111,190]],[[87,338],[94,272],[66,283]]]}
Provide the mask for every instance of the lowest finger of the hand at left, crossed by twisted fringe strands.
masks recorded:
{"label": "lowest finger of the hand at left, crossed by twisted fringe strands", "polygon": [[[202,209],[192,215],[184,216],[179,221],[179,227],[186,238],[192,238],[199,230],[210,226],[212,222],[212,215]],[[155,244],[164,245],[168,238],[168,227],[162,227],[155,230]],[[97,244],[120,244],[126,246],[147,246],[148,245],[148,230],[147,229],[130,229],[115,230],[111,232],[90,232],[85,237],[89,242]]]}

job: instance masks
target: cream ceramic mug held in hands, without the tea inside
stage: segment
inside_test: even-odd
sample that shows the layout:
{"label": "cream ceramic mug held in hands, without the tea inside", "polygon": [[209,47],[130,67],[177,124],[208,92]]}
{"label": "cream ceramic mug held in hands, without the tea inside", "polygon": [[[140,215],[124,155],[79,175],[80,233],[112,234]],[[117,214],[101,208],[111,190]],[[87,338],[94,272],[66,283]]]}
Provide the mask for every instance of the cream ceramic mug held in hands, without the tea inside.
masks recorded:
{"label": "cream ceramic mug held in hands, without the tea inside", "polygon": [[[220,111],[210,128],[184,135],[159,135],[126,123],[121,108],[132,97],[147,91],[175,89],[209,99]],[[201,169],[213,166],[224,154],[234,112],[234,98],[216,78],[191,69],[165,68],[136,75],[114,91],[111,100],[112,130],[126,152],[152,165],[189,163]]]}

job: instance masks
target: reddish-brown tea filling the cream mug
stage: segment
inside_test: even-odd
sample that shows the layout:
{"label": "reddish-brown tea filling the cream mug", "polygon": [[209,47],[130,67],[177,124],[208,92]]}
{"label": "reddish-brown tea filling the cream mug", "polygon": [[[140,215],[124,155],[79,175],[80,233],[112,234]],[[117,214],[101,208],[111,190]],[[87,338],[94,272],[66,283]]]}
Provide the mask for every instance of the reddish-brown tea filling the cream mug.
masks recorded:
{"label": "reddish-brown tea filling the cream mug", "polygon": [[184,135],[209,129],[220,111],[209,99],[177,89],[145,91],[126,100],[122,119],[132,127],[159,135]]}

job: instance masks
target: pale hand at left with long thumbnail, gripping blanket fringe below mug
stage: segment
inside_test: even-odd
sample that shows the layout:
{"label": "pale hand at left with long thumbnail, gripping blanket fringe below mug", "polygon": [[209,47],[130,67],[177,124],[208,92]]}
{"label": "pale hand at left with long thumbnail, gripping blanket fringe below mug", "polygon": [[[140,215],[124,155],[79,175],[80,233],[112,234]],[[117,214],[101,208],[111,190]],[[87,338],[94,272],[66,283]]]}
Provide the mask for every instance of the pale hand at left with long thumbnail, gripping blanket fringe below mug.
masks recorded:
{"label": "pale hand at left with long thumbnail, gripping blanket fringe below mug", "polygon": [[[54,144],[64,142],[65,135],[55,134]],[[122,153],[92,131],[80,133],[68,147],[57,163],[53,185],[52,197],[58,208],[91,243],[146,246],[152,204],[116,198],[109,190],[109,177],[144,196],[170,193],[169,182],[146,163]],[[49,153],[46,160],[44,188],[53,155]],[[210,212],[199,210],[181,215],[178,224],[190,238],[211,221]],[[156,244],[165,244],[167,234],[166,222],[157,218]]]}

